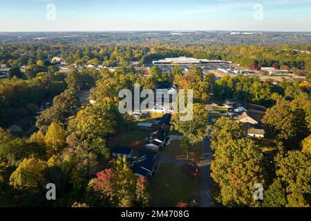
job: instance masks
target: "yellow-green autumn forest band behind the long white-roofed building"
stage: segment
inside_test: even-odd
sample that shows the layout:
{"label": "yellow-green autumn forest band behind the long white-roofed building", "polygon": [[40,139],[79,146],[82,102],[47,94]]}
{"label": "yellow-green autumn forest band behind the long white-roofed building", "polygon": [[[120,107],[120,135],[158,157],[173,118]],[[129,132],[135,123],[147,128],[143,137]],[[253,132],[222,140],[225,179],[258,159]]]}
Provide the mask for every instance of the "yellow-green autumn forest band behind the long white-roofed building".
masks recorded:
{"label": "yellow-green autumn forest band behind the long white-roofed building", "polygon": [[[297,49],[298,48],[298,49]],[[245,67],[298,68],[311,70],[310,45],[279,46],[182,46],[142,45],[122,46],[64,46],[46,44],[0,45],[0,64],[11,67],[36,64],[42,60],[48,66],[59,56],[68,64],[103,64],[104,66],[129,66],[131,61],[151,64],[164,57],[196,57],[198,59],[222,59]]]}

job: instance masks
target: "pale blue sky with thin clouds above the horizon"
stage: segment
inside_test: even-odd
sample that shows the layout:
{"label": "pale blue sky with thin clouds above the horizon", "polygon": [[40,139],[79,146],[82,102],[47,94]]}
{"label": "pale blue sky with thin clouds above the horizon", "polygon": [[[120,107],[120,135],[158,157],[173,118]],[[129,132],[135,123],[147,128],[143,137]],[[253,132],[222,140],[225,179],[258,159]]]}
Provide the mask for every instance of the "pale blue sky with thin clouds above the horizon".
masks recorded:
{"label": "pale blue sky with thin clouds above the horizon", "polygon": [[76,30],[311,31],[311,0],[0,0],[0,31]]}

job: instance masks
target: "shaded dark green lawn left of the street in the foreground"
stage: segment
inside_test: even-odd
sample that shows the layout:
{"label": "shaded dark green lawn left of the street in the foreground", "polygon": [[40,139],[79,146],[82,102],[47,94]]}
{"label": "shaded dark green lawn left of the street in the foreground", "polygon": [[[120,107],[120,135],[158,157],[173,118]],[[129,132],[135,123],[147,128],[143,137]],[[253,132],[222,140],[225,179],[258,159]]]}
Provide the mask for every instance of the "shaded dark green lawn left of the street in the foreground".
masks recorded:
{"label": "shaded dark green lawn left of the street in the foreground", "polygon": [[195,198],[194,177],[182,173],[182,166],[160,163],[150,180],[151,206],[174,207]]}

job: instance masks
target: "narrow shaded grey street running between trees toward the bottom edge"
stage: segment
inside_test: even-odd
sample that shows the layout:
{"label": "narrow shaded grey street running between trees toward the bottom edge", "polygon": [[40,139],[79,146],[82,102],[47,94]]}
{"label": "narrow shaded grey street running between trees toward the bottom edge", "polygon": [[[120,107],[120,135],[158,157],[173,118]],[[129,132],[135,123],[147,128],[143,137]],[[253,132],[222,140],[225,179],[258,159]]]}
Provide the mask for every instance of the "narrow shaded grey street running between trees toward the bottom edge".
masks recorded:
{"label": "narrow shaded grey street running between trees toward the bottom edge", "polygon": [[[211,124],[211,119],[209,119],[209,124]],[[209,207],[213,205],[213,196],[211,194],[211,142],[209,137],[205,138],[203,149],[203,160],[198,164],[201,181],[198,204],[200,207]]]}

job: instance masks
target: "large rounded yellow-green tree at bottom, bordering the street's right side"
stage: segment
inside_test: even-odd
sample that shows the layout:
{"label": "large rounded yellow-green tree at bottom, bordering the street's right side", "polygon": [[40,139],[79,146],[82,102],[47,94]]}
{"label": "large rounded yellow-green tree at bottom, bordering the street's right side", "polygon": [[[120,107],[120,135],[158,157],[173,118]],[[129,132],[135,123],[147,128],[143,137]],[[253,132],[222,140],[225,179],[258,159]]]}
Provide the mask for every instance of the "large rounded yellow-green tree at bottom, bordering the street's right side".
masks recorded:
{"label": "large rounded yellow-green tree at bottom, bordering the street's right side", "polygon": [[264,184],[263,153],[249,138],[228,139],[218,146],[211,162],[211,177],[220,186],[225,206],[258,206],[254,184]]}

